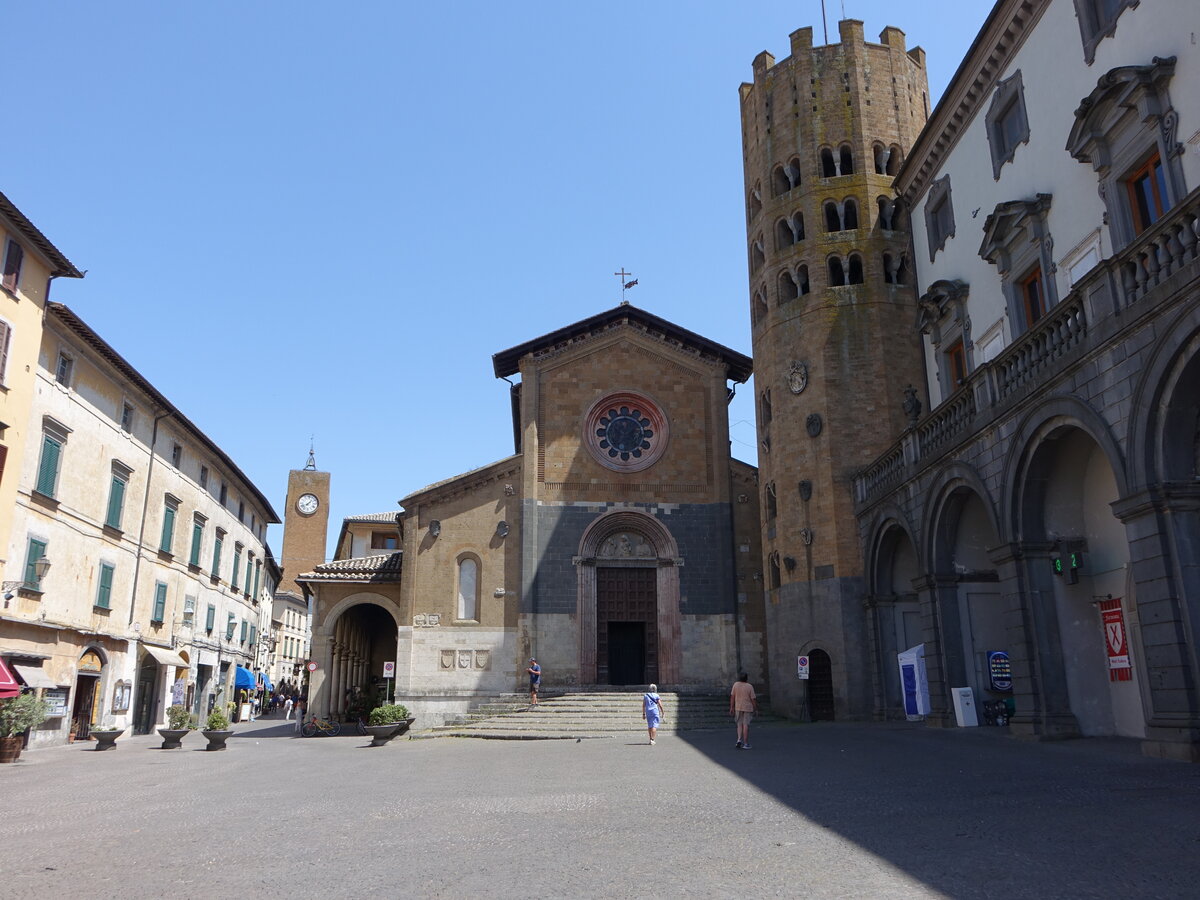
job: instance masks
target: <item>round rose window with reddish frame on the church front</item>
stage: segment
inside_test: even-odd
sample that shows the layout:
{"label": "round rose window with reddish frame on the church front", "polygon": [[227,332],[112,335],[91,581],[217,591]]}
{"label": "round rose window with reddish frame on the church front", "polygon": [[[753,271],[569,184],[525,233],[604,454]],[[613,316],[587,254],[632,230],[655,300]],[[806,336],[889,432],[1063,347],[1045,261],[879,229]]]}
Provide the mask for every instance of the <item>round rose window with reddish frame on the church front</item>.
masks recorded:
{"label": "round rose window with reddish frame on the church front", "polygon": [[584,446],[607,469],[640,472],[662,456],[667,419],[649,397],[620,391],[601,397],[583,420]]}

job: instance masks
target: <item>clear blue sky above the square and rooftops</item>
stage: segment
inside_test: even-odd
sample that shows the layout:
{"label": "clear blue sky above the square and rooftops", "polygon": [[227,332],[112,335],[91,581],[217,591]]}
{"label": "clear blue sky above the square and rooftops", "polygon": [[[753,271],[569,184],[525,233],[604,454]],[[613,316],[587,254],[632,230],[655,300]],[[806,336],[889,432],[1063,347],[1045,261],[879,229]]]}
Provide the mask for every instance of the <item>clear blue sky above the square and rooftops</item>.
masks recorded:
{"label": "clear blue sky above the square and rooftops", "polygon": [[[928,53],[991,4],[827,4]],[[936,14],[935,14],[936,11]],[[750,353],[738,85],[821,4],[61,0],[4,14],[0,190],[74,308],[283,514],[512,452],[491,356],[629,299]],[[755,462],[752,389],[732,407]],[[270,534],[278,553],[282,532]]]}

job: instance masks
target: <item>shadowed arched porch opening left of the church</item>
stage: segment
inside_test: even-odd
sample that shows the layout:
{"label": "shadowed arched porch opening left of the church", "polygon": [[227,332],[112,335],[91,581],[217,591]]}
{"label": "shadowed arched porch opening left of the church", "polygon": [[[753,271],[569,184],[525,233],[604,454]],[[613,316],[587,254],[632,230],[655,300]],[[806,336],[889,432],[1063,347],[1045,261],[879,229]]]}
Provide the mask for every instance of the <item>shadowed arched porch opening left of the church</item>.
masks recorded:
{"label": "shadowed arched porch opening left of the church", "polygon": [[308,712],[344,716],[354,697],[380,680],[383,664],[396,660],[398,634],[395,605],[379,594],[335,604],[313,632],[318,668],[308,682]]}

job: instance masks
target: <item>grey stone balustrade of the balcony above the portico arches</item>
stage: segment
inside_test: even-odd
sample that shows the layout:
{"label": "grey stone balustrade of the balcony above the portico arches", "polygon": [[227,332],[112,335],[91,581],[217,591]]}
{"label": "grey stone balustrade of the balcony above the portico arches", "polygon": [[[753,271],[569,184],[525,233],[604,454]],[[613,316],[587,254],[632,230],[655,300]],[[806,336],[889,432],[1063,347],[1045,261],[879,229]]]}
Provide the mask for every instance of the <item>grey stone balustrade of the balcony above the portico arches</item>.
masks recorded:
{"label": "grey stone balustrade of the balcony above the portico arches", "polygon": [[943,457],[1087,356],[1180,298],[1200,278],[1200,188],[1124,250],[1105,259],[1026,334],[978,366],[936,409],[854,476],[854,503],[869,506]]}

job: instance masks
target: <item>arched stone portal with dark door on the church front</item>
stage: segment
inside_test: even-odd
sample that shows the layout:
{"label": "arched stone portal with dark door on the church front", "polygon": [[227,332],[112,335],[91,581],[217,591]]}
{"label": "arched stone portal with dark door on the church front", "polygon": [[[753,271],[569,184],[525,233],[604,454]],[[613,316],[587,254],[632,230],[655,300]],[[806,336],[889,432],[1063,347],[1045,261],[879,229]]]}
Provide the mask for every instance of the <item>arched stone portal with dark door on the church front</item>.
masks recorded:
{"label": "arched stone portal with dark door on the church front", "polygon": [[[646,682],[678,684],[680,672],[679,546],[659,520],[635,510],[613,510],[592,522],[580,540],[577,622],[580,624],[580,680],[611,684],[610,640],[636,641],[644,626]],[[648,596],[653,593],[653,602]],[[629,598],[624,604],[622,595]],[[624,605],[623,605],[624,604]],[[601,608],[605,607],[605,608]],[[624,608],[626,612],[618,612]],[[614,619],[612,614],[652,618]],[[605,631],[599,619],[605,617]],[[616,628],[610,628],[610,624]],[[653,646],[652,646],[653,643]],[[620,673],[617,673],[620,676]],[[622,682],[626,683],[626,682]],[[644,682],[643,682],[644,683]]]}

